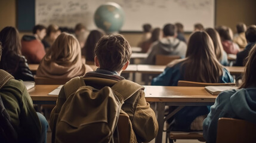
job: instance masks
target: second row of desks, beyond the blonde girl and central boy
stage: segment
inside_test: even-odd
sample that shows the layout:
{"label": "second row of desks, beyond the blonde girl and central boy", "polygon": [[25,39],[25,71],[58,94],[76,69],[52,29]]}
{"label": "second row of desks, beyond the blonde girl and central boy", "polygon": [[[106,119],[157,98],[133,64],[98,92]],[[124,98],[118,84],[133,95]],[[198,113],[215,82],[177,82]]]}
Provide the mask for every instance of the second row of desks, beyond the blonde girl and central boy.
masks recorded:
{"label": "second row of desks, beyond the blonde girl and central boy", "polygon": [[[90,65],[92,69],[95,69],[94,65]],[[147,64],[130,64],[126,70],[122,73],[144,73],[144,74],[161,74],[166,66],[157,66],[157,65],[147,65]],[[32,73],[36,73],[38,69],[38,64],[29,64],[29,69]],[[230,74],[238,75],[244,72],[245,67],[226,67],[229,70]]]}

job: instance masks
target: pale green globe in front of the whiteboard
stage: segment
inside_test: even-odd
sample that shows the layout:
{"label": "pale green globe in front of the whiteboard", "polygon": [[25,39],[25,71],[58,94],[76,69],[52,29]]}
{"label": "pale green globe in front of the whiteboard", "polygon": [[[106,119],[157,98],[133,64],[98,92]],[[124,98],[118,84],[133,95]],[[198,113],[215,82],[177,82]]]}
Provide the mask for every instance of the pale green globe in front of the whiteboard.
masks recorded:
{"label": "pale green globe in front of the whiteboard", "polygon": [[100,5],[94,14],[94,21],[98,28],[106,33],[119,32],[124,24],[124,10],[115,2]]}

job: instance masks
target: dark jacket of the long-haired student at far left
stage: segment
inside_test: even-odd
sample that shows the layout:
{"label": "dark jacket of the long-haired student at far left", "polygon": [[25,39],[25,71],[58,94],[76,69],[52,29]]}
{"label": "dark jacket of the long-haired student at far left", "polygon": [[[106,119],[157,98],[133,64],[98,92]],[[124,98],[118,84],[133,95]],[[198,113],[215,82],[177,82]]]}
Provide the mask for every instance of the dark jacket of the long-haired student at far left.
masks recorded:
{"label": "dark jacket of the long-haired student at far left", "polygon": [[33,81],[34,77],[29,70],[29,65],[24,56],[10,53],[5,55],[0,62],[0,69],[7,71],[15,79],[21,79],[24,81]]}

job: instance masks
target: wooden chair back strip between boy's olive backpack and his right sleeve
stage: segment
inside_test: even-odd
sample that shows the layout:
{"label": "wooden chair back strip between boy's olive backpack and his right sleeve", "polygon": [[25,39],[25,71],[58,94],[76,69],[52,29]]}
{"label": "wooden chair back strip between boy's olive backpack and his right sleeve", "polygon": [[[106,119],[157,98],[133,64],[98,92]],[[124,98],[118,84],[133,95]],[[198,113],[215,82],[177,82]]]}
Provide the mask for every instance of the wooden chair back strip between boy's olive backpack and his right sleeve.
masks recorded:
{"label": "wooden chair back strip between boy's olive backpack and his right sleeve", "polygon": [[129,143],[129,116],[128,114],[120,113],[118,118],[118,135],[119,142]]}

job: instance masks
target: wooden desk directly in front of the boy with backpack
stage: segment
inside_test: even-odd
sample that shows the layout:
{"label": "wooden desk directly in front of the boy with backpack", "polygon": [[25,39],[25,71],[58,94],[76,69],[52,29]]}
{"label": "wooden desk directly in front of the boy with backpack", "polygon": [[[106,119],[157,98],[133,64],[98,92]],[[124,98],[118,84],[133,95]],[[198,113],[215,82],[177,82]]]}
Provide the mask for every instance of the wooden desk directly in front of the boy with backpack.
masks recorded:
{"label": "wooden desk directly in front of the boy with backpack", "polygon": [[[55,104],[57,95],[48,95],[58,85],[35,85],[29,89],[30,97],[34,104]],[[182,87],[182,86],[144,86],[146,101],[156,102],[158,112],[159,131],[156,142],[162,142],[164,130],[165,105],[179,106],[179,110],[187,105],[212,105],[217,96],[209,94],[203,87]],[[177,112],[176,110],[175,112]],[[174,113],[173,113],[174,114]]]}

